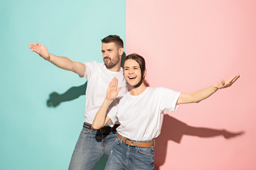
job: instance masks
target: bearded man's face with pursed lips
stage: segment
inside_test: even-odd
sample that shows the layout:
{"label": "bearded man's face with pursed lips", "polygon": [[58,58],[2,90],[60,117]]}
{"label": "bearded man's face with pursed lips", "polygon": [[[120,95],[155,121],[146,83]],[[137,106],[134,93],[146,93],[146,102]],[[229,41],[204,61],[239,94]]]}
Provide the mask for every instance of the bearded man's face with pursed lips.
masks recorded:
{"label": "bearded man's face with pursed lips", "polygon": [[119,50],[114,42],[102,43],[102,57],[107,69],[115,67],[119,61]]}

